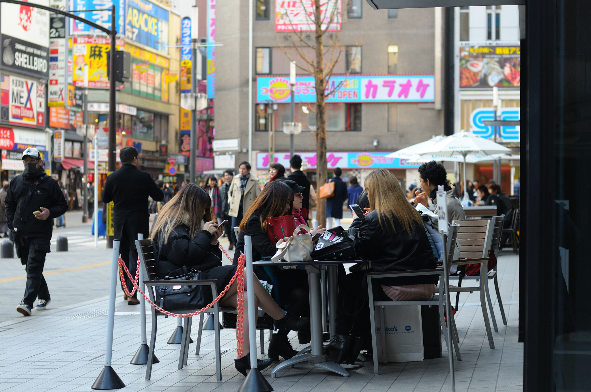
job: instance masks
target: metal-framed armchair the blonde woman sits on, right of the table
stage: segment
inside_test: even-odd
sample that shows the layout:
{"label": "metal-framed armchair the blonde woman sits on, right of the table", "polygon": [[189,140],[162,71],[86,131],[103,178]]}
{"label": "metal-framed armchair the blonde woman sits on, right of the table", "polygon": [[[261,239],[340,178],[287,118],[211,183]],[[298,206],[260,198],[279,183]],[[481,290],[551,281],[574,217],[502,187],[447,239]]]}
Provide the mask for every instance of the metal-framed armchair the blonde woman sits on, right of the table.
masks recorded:
{"label": "metal-framed armchair the blonde woman sits on, right of the table", "polygon": [[[378,308],[380,312],[380,320],[381,320],[381,345],[382,345],[382,361],[387,363],[387,355],[386,355],[386,339],[385,339],[385,324],[384,324],[384,308],[385,306],[417,306],[417,305],[428,305],[428,306],[439,306],[439,318],[441,320],[441,326],[443,327],[443,335],[446,339],[447,345],[447,352],[450,357],[453,356],[452,352],[452,344],[447,340],[447,326],[444,322],[445,316],[443,313],[443,306],[444,306],[444,299],[451,300],[451,298],[445,298],[444,293],[448,292],[449,289],[449,268],[451,266],[451,262],[453,260],[453,251],[456,247],[456,239],[457,239],[457,231],[459,229],[459,225],[452,224],[449,226],[447,242],[445,244],[444,251],[448,254],[448,266],[447,268],[440,268],[435,269],[428,269],[428,270],[412,270],[412,271],[397,271],[397,272],[371,272],[366,274],[366,279],[368,282],[368,296],[369,296],[369,319],[371,323],[371,340],[372,340],[372,350],[374,352],[374,374],[379,374],[378,371],[378,342],[376,336],[376,325],[375,325],[375,309]],[[425,275],[439,275],[439,282],[443,282],[443,285],[437,286],[439,289],[439,293],[433,295],[430,299],[421,300],[421,301],[374,301],[374,292],[372,289],[372,281],[374,279],[381,279],[384,277],[402,277],[402,276],[425,276]],[[379,283],[378,283],[379,284]],[[453,348],[456,351],[456,358],[458,361],[462,360],[462,356],[460,355],[460,350],[457,344],[457,331],[456,331],[456,324],[453,317],[449,317],[449,326],[452,329],[452,341],[453,341]],[[450,369],[453,372],[453,369]]]}

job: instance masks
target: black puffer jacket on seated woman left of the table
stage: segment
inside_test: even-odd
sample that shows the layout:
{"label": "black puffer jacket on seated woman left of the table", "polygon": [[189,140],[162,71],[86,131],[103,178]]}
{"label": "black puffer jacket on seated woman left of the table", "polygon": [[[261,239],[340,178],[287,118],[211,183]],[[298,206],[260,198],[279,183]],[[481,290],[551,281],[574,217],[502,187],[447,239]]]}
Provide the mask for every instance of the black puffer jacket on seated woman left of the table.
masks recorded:
{"label": "black puffer jacket on seated woman left of the table", "polygon": [[210,244],[212,235],[207,230],[197,234],[194,239],[189,237],[186,226],[177,226],[164,243],[155,237],[154,255],[157,257],[156,275],[162,279],[174,270],[187,266],[199,271],[209,270],[222,265],[222,251],[216,244]]}

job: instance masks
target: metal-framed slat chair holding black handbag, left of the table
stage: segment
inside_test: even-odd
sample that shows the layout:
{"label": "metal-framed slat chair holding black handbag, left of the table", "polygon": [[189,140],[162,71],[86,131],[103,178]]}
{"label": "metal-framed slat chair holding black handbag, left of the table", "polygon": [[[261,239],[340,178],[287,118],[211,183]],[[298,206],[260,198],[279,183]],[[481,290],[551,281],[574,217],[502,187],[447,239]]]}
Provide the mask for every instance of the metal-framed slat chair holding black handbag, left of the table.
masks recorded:
{"label": "metal-framed slat chair holding black handbag, left of the table", "polygon": [[[156,302],[156,296],[154,292],[155,286],[210,286],[212,289],[212,298],[217,297],[216,279],[208,280],[154,280],[156,278],[156,268],[154,266],[154,252],[152,250],[152,240],[136,240],[135,247],[138,250],[139,260],[141,261],[141,267],[144,269],[144,277],[148,280],[144,280],[146,285],[146,291],[150,300]],[[199,309],[184,309],[171,313],[182,314],[191,313]],[[217,381],[222,381],[222,355],[220,354],[220,330],[219,330],[219,306],[217,303],[210,309],[214,316],[215,324],[215,345],[216,345],[216,375]],[[232,310],[235,310],[232,308]],[[146,380],[150,380],[152,374],[152,358],[154,358],[154,347],[156,344],[156,331],[158,325],[158,316],[164,316],[164,313],[157,311],[152,308],[152,335],[150,339],[150,352],[148,352],[148,364],[146,367]],[[197,338],[197,354],[199,354],[199,345],[201,343],[201,327],[203,324],[203,313],[201,313],[199,337]],[[183,328],[183,339],[181,340],[180,354],[178,356],[178,368],[182,369],[183,365],[187,364],[187,357],[189,355],[189,341],[191,334],[191,317],[185,318]]]}

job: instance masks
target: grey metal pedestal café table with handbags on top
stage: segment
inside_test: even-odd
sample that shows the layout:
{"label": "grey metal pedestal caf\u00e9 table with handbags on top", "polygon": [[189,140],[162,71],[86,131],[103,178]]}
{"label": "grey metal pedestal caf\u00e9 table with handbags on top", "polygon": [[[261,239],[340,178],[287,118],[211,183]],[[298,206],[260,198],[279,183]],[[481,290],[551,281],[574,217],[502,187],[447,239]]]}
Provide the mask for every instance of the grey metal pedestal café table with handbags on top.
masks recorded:
{"label": "grey metal pedestal caf\u00e9 table with handbags on top", "polygon": [[322,344],[322,292],[320,289],[320,267],[327,267],[328,299],[329,299],[329,325],[330,335],[335,334],[336,302],[338,295],[337,266],[344,263],[359,263],[362,260],[330,260],[312,262],[271,262],[271,260],[261,260],[252,263],[253,266],[306,266],[308,273],[308,285],[310,290],[310,352],[304,352],[285,360],[275,366],[271,371],[271,378],[275,378],[277,371],[293,367],[300,362],[309,362],[309,364],[330,370],[334,373],[349,377],[349,372],[336,362],[329,361],[324,354],[324,345]]}

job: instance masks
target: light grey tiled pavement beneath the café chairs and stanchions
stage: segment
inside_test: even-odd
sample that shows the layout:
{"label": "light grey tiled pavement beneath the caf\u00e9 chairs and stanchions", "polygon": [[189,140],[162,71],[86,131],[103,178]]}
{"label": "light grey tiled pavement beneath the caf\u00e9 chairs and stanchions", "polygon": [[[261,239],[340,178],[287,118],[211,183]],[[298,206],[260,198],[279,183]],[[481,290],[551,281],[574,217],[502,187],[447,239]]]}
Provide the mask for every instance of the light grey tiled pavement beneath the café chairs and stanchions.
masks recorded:
{"label": "light grey tiled pavement beneath the caf\u00e9 chairs and stanchions", "polygon": [[[63,269],[74,264],[96,263],[93,260],[96,257],[100,261],[108,259],[105,256],[109,251],[104,247],[92,251],[87,247],[80,248],[85,249],[85,253],[79,253],[72,247],[70,252],[60,253],[59,260],[54,260],[50,265]],[[456,361],[457,391],[522,390],[523,345],[517,342],[518,257],[504,253],[499,258],[499,276],[501,294],[507,304],[505,311],[508,314],[508,326],[502,325],[497,306],[499,332],[493,332],[496,348],[490,349],[482,312],[477,305],[478,293],[463,294],[460,304],[465,306],[460,306],[456,314],[463,356],[463,361]],[[86,257],[81,257],[84,254]],[[6,261],[1,260],[3,264]],[[15,262],[16,259],[11,264]],[[100,295],[107,292],[108,270],[109,266],[100,266],[82,272],[51,275],[54,281],[49,283],[50,289],[52,285],[74,285],[74,289],[83,287],[85,277],[90,283],[82,293],[72,294],[78,298],[74,303],[55,301],[46,312],[35,311],[28,318],[19,317],[17,313],[16,318],[0,319],[0,391],[91,391],[90,386],[105,361],[107,318],[103,314],[108,308],[108,298]],[[12,273],[11,270],[8,273]],[[80,284],[72,283],[73,280],[80,280]],[[24,280],[0,283],[3,295],[12,287],[9,285],[14,283],[18,283],[18,295],[21,295]],[[97,290],[93,291],[94,288]],[[54,292],[59,293],[58,288]],[[493,293],[493,298],[494,296]],[[93,297],[95,299],[88,300]],[[54,299],[59,299],[57,294],[54,294]],[[0,302],[0,315],[16,313],[14,306],[14,303]],[[233,367],[233,360],[236,358],[233,330],[222,331],[222,383],[218,383],[215,377],[212,331],[204,331],[202,354],[199,357],[194,355],[195,344],[191,344],[189,364],[183,370],[178,370],[178,345],[166,344],[176,326],[176,319],[159,318],[155,354],[160,363],[154,365],[152,378],[146,381],[145,365],[129,364],[139,347],[139,316],[129,313],[135,313],[139,309],[126,305],[120,292],[116,309],[113,368],[126,384],[122,391],[238,390],[243,376]],[[193,325],[192,335],[195,339],[196,322]],[[297,345],[297,337],[293,333],[291,340]],[[350,373],[347,378],[301,364],[278,374],[280,377],[275,379],[271,379],[270,368],[264,375],[278,392],[449,391],[451,388],[445,344],[443,351],[444,357],[437,360],[380,364],[379,375],[374,375],[371,361],[365,362],[362,367],[345,365]]]}

